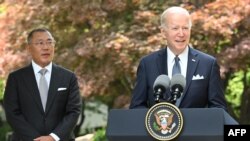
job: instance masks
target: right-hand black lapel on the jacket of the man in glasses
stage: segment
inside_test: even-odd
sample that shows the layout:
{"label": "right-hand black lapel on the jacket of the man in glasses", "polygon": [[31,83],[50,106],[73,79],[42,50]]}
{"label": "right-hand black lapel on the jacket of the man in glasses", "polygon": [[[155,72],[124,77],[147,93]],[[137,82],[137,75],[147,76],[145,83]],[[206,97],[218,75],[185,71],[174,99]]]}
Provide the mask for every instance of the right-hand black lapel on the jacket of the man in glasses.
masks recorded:
{"label": "right-hand black lapel on the jacket of the man in glasses", "polygon": [[58,67],[53,64],[45,113],[48,113],[48,110],[50,109],[50,106],[52,105],[53,100],[55,99],[55,96],[57,94],[57,88],[60,82],[59,73],[60,71]]}

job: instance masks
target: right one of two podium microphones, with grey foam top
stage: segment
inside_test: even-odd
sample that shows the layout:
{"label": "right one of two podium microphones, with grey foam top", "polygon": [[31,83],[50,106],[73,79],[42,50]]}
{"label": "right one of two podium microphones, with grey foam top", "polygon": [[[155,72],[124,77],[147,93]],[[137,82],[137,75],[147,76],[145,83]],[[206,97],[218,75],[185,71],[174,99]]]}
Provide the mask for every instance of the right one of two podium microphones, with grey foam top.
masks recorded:
{"label": "right one of two podium microphones, with grey foam top", "polygon": [[172,104],[176,103],[176,100],[180,98],[184,88],[186,86],[185,77],[181,74],[176,74],[172,77],[170,81],[170,92],[171,97],[169,102]]}

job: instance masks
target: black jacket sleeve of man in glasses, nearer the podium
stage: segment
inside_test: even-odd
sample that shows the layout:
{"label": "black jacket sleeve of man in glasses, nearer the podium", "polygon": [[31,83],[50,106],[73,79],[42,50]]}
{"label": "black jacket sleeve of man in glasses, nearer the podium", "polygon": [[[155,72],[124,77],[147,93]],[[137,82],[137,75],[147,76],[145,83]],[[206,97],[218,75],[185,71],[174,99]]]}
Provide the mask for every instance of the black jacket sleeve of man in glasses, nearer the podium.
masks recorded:
{"label": "black jacket sleeve of man in glasses, nearer the podium", "polygon": [[71,75],[69,83],[70,83],[69,84],[70,91],[69,91],[68,102],[66,104],[65,116],[53,131],[53,133],[59,136],[59,138],[62,140],[70,136],[70,133],[73,131],[77,123],[82,107],[79,86],[77,78],[74,74]]}

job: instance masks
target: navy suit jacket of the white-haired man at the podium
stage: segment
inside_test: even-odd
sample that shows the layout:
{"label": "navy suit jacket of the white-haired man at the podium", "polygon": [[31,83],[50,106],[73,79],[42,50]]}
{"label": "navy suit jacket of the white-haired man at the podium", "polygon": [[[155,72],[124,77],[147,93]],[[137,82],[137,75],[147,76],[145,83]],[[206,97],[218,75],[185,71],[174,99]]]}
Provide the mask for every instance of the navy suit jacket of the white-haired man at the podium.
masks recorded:
{"label": "navy suit jacket of the white-haired man at the podium", "polygon": [[[161,74],[167,75],[167,49],[161,49],[143,57],[137,70],[137,79],[130,108],[147,107],[155,104],[153,84]],[[192,80],[193,76],[204,79]],[[180,108],[218,107],[226,110],[219,66],[216,59],[193,48],[189,48],[186,87]],[[170,97],[167,91],[162,101]]]}

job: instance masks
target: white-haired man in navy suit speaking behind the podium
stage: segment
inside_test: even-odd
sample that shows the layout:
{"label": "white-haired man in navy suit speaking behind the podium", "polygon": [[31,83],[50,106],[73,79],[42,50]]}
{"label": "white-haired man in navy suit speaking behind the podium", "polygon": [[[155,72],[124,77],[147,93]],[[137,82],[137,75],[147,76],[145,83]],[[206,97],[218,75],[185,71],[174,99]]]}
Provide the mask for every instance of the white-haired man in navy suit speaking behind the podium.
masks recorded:
{"label": "white-haired man in navy suit speaking behind the podium", "polygon": [[[172,78],[181,74],[186,87],[175,103],[180,108],[217,107],[227,110],[216,58],[189,45],[192,21],[182,7],[170,7],[161,15],[161,33],[165,48],[144,56],[137,69],[130,108],[150,108],[156,102],[153,84],[159,75]],[[160,101],[168,101],[167,90]]]}

